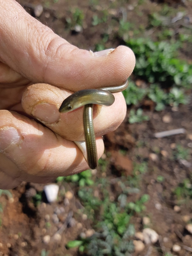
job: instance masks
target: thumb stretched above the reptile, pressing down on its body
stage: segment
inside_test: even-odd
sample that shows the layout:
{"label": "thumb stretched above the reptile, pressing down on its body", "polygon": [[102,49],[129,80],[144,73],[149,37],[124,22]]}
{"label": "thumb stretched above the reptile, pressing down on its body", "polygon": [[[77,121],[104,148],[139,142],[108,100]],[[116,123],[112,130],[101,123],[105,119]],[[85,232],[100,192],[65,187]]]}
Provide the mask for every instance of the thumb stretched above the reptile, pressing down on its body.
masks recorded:
{"label": "thumb stretched above the reptile, pressing down on its body", "polygon": [[133,71],[135,57],[125,46],[94,55],[60,38],[16,1],[0,1],[0,9],[0,58],[32,81],[78,91],[121,84]]}

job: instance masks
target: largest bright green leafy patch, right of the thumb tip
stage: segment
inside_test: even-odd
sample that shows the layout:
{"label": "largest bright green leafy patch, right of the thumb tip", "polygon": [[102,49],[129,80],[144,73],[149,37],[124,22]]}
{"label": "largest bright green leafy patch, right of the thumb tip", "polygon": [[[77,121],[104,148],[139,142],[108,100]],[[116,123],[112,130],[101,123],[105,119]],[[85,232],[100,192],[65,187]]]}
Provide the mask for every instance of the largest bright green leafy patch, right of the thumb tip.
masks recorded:
{"label": "largest bright green leafy patch, right of the thumb tip", "polygon": [[192,64],[177,58],[181,43],[152,42],[149,39],[130,39],[126,41],[136,57],[134,74],[142,76],[150,83],[166,82],[170,87],[191,87]]}

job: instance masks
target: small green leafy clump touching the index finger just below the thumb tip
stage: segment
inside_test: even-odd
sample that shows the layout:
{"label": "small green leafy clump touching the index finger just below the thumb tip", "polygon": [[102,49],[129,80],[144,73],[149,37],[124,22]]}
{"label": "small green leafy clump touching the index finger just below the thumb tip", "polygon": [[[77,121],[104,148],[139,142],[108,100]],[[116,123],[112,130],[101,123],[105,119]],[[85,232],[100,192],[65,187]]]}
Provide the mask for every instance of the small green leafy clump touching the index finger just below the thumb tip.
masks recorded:
{"label": "small green leafy clump touching the index finger just below the thumb tip", "polygon": [[139,88],[133,81],[129,81],[129,86],[122,93],[127,105],[137,105],[145,97],[147,90]]}

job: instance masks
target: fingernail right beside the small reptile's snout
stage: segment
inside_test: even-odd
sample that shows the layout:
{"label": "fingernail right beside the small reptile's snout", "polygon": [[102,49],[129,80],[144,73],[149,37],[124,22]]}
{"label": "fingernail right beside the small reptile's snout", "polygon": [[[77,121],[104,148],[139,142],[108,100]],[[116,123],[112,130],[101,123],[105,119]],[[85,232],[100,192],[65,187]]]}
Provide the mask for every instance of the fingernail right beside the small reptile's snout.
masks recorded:
{"label": "fingernail right beside the small reptile's snout", "polygon": [[33,107],[32,115],[40,121],[53,124],[59,120],[60,113],[54,104],[39,103]]}

